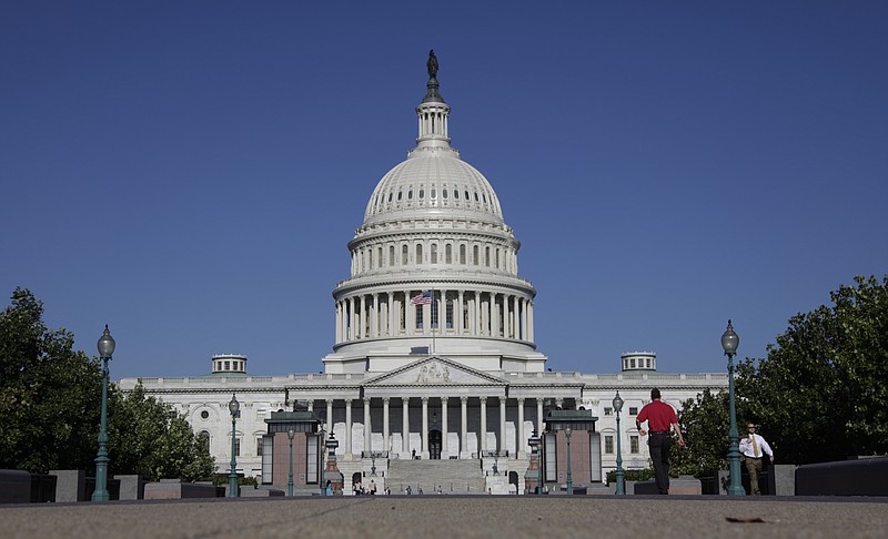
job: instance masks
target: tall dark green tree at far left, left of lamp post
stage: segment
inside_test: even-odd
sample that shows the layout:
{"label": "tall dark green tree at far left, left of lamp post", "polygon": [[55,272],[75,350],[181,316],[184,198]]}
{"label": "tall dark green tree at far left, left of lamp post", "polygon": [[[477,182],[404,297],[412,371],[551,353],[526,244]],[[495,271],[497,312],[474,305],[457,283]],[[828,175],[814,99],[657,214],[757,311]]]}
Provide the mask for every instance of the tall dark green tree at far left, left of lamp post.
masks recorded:
{"label": "tall dark green tree at far left, left of lamp post", "polygon": [[74,352],[73,335],[50,330],[43,304],[16,288],[0,314],[0,468],[83,468],[95,458],[99,362]]}

